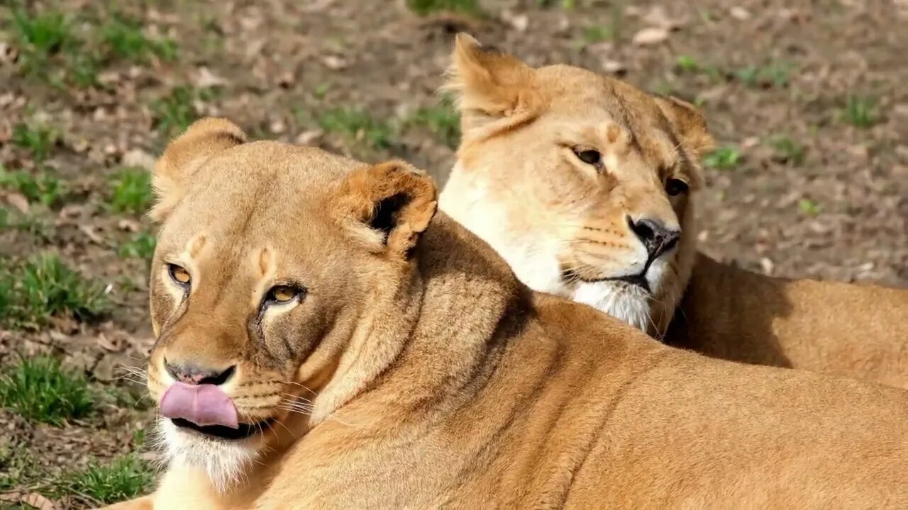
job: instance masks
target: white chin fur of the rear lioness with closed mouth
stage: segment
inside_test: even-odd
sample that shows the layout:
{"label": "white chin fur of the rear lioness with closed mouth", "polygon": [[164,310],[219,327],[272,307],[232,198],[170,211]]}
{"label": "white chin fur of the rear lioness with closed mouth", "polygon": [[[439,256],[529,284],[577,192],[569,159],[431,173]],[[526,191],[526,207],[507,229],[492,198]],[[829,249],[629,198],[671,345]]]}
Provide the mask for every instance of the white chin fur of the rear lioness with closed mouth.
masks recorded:
{"label": "white chin fur of the rear lioness with closed mouth", "polygon": [[643,289],[607,281],[580,283],[571,299],[623,320],[637,329],[650,333],[656,329],[651,317],[650,297]]}

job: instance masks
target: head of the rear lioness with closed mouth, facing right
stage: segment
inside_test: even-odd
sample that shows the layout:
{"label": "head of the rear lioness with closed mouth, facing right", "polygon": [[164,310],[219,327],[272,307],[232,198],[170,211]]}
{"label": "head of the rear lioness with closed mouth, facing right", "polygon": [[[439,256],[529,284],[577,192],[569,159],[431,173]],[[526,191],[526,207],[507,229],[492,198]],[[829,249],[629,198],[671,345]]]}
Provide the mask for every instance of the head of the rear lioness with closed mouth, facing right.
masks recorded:
{"label": "head of the rear lioness with closed mouth, facing right", "polygon": [[569,65],[455,44],[463,142],[440,206],[537,290],[662,334],[695,258],[712,145],[694,106]]}

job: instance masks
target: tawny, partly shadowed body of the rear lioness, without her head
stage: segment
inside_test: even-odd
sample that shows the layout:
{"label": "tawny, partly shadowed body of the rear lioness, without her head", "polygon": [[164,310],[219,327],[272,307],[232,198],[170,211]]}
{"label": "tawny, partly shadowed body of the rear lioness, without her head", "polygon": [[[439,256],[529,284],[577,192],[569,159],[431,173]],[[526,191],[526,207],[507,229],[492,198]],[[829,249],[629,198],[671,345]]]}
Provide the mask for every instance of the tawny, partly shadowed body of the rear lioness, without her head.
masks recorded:
{"label": "tawny, partly shadowed body of the rear lioness, without her head", "polygon": [[699,255],[666,343],[908,388],[908,291],[772,278]]}

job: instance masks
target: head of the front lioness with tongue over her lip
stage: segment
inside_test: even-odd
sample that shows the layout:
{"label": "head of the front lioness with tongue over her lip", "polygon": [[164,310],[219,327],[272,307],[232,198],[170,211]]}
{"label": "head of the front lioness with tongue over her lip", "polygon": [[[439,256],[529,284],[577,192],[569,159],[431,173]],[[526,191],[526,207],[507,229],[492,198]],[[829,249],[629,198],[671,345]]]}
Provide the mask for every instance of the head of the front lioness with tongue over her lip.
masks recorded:
{"label": "head of the front lioness with tongue over her lip", "polygon": [[245,140],[202,120],[153,176],[148,388],[173,462],[219,487],[399,354],[375,338],[409,320],[410,250],[436,211],[406,163]]}

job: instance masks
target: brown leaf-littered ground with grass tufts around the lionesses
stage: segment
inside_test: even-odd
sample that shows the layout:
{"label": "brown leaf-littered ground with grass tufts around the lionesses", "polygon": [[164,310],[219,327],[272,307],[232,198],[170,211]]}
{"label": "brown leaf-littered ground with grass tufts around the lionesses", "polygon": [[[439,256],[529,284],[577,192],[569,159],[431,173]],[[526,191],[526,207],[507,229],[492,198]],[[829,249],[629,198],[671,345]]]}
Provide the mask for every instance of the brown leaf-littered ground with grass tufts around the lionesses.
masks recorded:
{"label": "brown leaf-littered ground with grass tufts around the lionesses", "polygon": [[[445,9],[439,9],[439,6]],[[203,114],[445,181],[454,33],[700,105],[706,252],[908,284],[908,5],[88,0],[0,6],[0,506],[141,494],[148,169]]]}

